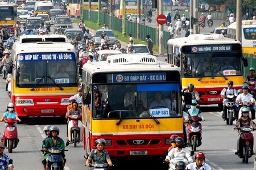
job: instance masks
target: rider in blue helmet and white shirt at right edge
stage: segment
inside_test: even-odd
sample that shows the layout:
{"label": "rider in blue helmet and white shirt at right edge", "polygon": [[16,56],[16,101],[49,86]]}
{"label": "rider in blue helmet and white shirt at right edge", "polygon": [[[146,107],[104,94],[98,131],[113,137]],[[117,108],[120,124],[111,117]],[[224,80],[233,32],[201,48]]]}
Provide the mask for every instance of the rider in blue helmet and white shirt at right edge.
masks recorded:
{"label": "rider in blue helmet and white shirt at right edge", "polygon": [[[250,111],[251,111],[251,118],[254,120],[255,119],[255,109],[254,104],[255,100],[253,98],[253,95],[248,93],[249,87],[248,86],[243,86],[242,87],[243,93],[238,95],[236,98],[236,104],[243,104],[244,101],[247,101],[247,103],[250,105]],[[237,113],[236,113],[236,119],[238,120],[238,112],[240,111],[240,108],[242,105],[238,106]]]}

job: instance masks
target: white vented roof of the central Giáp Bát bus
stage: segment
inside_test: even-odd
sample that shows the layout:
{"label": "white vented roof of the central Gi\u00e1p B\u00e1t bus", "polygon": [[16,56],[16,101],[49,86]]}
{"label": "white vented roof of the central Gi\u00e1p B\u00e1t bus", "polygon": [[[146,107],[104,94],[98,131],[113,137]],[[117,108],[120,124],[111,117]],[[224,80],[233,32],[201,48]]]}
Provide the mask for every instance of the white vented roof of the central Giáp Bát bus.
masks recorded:
{"label": "white vented roof of the central Gi\u00e1p B\u00e1t bus", "polygon": [[171,70],[180,72],[179,67],[159,61],[157,57],[146,54],[115,54],[109,56],[107,61],[85,63],[83,70],[90,70],[91,73]]}

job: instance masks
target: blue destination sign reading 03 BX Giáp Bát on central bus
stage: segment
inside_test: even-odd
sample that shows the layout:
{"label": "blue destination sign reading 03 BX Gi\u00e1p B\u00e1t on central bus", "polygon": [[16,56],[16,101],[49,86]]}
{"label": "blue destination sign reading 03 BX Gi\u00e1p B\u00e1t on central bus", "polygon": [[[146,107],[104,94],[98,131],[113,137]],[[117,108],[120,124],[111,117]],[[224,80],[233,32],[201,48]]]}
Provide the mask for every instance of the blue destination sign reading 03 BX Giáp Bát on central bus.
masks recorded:
{"label": "blue destination sign reading 03 BX Gi\u00e1p B\u00e1t on central bus", "polygon": [[112,74],[112,82],[166,82],[166,73],[117,73]]}

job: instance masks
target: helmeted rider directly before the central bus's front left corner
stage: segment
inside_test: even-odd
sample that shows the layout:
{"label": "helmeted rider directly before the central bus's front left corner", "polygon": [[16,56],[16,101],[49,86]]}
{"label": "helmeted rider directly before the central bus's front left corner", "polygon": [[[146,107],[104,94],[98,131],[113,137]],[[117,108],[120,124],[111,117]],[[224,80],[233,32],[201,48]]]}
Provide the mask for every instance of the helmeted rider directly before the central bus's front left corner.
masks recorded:
{"label": "helmeted rider directly before the central bus's front left corner", "polygon": [[90,162],[103,162],[108,163],[110,167],[113,166],[112,161],[110,159],[108,151],[104,150],[104,146],[106,145],[105,139],[97,139],[95,141],[96,149],[93,149],[88,158],[86,159],[85,165],[89,166]]}

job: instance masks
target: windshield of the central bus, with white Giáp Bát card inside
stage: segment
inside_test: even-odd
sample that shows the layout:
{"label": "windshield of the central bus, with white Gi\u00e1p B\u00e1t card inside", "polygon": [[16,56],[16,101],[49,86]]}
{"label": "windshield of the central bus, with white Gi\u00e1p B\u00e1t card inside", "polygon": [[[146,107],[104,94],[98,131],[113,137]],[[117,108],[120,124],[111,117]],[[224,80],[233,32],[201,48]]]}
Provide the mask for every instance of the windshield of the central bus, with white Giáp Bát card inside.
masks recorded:
{"label": "windshield of the central bus, with white Gi\u00e1p B\u00e1t card inside", "polygon": [[93,118],[181,116],[179,83],[97,84],[93,89]]}

